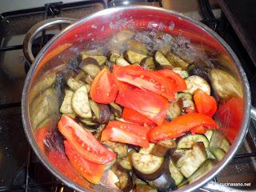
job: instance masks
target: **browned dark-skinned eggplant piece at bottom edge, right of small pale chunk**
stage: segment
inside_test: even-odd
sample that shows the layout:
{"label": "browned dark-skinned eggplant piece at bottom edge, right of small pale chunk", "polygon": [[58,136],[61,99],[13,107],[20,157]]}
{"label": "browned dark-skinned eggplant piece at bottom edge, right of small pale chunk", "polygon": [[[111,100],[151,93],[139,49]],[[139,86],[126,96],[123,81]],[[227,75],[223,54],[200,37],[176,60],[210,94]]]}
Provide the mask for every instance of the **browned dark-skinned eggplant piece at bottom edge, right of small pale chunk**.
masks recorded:
{"label": "browned dark-skinned eggplant piece at bottom edge, right of small pale chunk", "polygon": [[117,166],[112,166],[111,170],[119,179],[119,181],[114,184],[118,186],[120,190],[122,190],[123,192],[129,192],[133,189],[134,183],[129,173],[119,170]]}

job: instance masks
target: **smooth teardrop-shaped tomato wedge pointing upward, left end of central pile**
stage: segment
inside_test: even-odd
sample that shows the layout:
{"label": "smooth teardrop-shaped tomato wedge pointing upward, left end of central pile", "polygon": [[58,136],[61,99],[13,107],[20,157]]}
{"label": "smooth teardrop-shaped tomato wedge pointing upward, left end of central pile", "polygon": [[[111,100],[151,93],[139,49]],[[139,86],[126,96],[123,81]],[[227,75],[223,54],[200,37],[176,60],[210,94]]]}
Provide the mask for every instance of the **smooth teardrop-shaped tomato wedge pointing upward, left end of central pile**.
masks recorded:
{"label": "smooth teardrop-shaped tomato wedge pointing upward, left end of central pile", "polygon": [[104,68],[97,74],[90,86],[90,98],[94,102],[108,104],[114,102],[117,94],[118,88],[115,85],[114,77],[108,68]]}

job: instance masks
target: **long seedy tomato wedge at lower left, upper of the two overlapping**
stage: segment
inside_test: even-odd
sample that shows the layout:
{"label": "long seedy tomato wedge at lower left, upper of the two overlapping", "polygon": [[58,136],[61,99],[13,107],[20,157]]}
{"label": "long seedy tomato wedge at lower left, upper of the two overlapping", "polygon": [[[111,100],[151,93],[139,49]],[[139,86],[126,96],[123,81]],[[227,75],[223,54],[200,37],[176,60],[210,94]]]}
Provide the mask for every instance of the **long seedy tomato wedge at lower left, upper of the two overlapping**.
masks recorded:
{"label": "long seedy tomato wedge at lower left, upper of the two overlapping", "polygon": [[102,146],[94,135],[86,131],[74,119],[65,115],[58,122],[58,130],[66,138],[74,150],[90,162],[106,164],[114,160],[116,155]]}

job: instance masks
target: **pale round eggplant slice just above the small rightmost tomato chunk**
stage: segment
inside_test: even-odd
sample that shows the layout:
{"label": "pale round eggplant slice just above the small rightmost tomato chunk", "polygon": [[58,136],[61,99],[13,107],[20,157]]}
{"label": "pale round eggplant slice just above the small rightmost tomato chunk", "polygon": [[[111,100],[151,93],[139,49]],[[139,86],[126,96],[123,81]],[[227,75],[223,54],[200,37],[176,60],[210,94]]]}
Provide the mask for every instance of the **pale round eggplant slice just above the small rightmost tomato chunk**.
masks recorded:
{"label": "pale round eggplant slice just above the small rightmost tomato chunk", "polygon": [[194,94],[195,90],[203,90],[206,94],[210,95],[210,85],[204,78],[201,78],[197,75],[192,75],[185,79],[187,90],[183,92],[188,94]]}

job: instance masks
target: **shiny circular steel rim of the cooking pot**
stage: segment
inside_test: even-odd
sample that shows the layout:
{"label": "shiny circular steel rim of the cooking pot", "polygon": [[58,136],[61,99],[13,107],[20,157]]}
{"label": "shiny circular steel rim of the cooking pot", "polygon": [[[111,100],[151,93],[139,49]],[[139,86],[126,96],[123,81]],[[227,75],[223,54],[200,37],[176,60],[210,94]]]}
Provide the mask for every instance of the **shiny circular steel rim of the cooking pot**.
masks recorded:
{"label": "shiny circular steel rim of the cooking pot", "polygon": [[105,10],[100,10],[94,14],[90,14],[90,16],[87,16],[85,18],[82,18],[78,20],[78,22],[74,22],[74,24],[71,24],[70,26],[67,26],[66,29],[62,30],[61,33],[57,34],[54,36],[54,38],[50,39],[50,42],[47,42],[46,46],[40,50],[38,53],[38,56],[34,60],[34,64],[30,67],[30,70],[26,76],[26,81],[23,87],[22,91],[22,123],[23,127],[26,133],[26,138],[30,142],[30,146],[34,150],[34,153],[37,154],[38,158],[40,158],[42,164],[46,166],[48,170],[54,176],[62,182],[66,184],[66,186],[69,186],[73,188],[74,190],[78,191],[89,191],[83,188],[82,186],[79,186],[77,183],[73,182],[69,178],[66,178],[61,172],[59,172],[54,166],[51,165],[49,160],[46,158],[44,154],[40,151],[37,142],[34,139],[34,134],[30,126],[30,121],[29,121],[29,109],[28,109],[28,95],[31,87],[31,82],[30,78],[34,75],[34,72],[36,68],[38,67],[38,63],[41,62],[42,56],[46,53],[46,51],[56,42],[56,40],[62,36],[62,34],[66,34],[70,30],[73,30],[76,26],[79,26],[83,22],[86,22],[92,18],[97,18],[98,16],[102,16],[104,14],[114,14],[118,12],[122,12],[123,10],[155,10],[155,11],[160,11],[164,12],[166,14],[173,14],[174,16],[177,16],[179,18],[185,19],[188,22],[193,23],[196,26],[199,26],[202,30],[206,31],[210,35],[212,35],[214,38],[218,40],[218,42],[221,43],[221,45],[227,50],[227,52],[230,54],[232,59],[234,60],[234,64],[237,67],[238,73],[239,73],[239,78],[242,81],[242,86],[243,86],[243,102],[244,102],[244,109],[243,109],[243,121],[242,121],[242,129],[238,133],[238,137],[236,138],[235,142],[232,144],[230,147],[229,152],[225,155],[225,158],[222,159],[221,162],[218,162],[218,165],[214,167],[214,170],[211,170],[208,174],[200,178],[198,181],[193,182],[192,184],[183,187],[182,189],[178,189],[179,191],[193,191],[198,189],[199,187],[203,186],[206,184],[206,182],[210,182],[223,168],[226,166],[231,159],[234,157],[234,154],[237,153],[239,146],[242,144],[243,139],[246,136],[246,132],[248,130],[248,125],[249,125],[249,120],[250,120],[250,104],[251,104],[251,99],[250,99],[250,86],[248,83],[248,80],[246,78],[246,74],[244,70],[242,69],[241,63],[239,62],[236,54],[234,54],[234,51],[231,50],[230,46],[227,45],[227,43],[218,36],[214,32],[214,30],[211,30],[208,26],[204,25],[202,22],[195,21],[192,18],[189,18],[183,14],[177,13],[173,10],[165,10],[163,8],[158,8],[154,6],[120,6],[120,7],[113,7]]}

